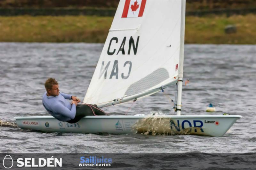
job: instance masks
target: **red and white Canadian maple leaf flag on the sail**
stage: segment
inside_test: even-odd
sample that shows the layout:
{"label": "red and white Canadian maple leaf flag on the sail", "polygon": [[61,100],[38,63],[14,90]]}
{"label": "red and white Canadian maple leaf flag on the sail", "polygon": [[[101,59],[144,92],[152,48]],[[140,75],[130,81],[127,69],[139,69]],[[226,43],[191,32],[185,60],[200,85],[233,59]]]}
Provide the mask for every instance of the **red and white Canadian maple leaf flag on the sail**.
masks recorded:
{"label": "red and white Canadian maple leaf flag on the sail", "polygon": [[142,17],[146,0],[125,0],[122,18]]}

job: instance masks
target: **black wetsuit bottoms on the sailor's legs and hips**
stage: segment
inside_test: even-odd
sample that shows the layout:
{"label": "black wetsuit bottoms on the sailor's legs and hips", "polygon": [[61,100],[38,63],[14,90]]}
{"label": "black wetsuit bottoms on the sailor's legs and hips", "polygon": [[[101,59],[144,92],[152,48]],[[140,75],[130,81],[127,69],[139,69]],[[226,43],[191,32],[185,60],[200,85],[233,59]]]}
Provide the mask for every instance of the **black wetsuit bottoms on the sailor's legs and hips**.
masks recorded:
{"label": "black wetsuit bottoms on the sailor's legs and hips", "polygon": [[[107,115],[104,111],[99,109],[98,107],[95,108],[95,105],[77,105],[76,106],[76,116],[74,119],[71,119],[70,121],[67,121],[68,123],[76,123],[80,121],[84,116],[93,116],[93,115]],[[95,114],[93,114],[93,112]]]}

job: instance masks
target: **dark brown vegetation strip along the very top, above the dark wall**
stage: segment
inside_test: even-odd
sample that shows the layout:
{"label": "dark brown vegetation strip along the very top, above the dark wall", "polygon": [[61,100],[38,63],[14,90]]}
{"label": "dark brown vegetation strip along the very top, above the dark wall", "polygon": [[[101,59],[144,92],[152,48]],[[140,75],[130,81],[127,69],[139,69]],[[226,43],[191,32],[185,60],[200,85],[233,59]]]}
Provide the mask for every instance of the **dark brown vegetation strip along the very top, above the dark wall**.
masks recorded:
{"label": "dark brown vegetation strip along the very top, above the dark wall", "polygon": [[[55,8],[55,7],[99,7],[117,8],[119,0],[1,0],[3,8]],[[255,8],[255,0],[187,0],[187,11]]]}

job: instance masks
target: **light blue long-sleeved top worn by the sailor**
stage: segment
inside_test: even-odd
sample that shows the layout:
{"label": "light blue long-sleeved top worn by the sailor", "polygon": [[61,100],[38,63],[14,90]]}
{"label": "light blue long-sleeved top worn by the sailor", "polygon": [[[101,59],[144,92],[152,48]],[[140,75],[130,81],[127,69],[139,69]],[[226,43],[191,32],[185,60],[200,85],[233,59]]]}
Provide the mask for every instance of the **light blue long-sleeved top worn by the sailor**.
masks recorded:
{"label": "light blue long-sleeved top worn by the sailor", "polygon": [[69,121],[76,116],[76,105],[68,102],[71,100],[71,95],[60,92],[58,96],[43,95],[43,105],[50,115],[59,121]]}

